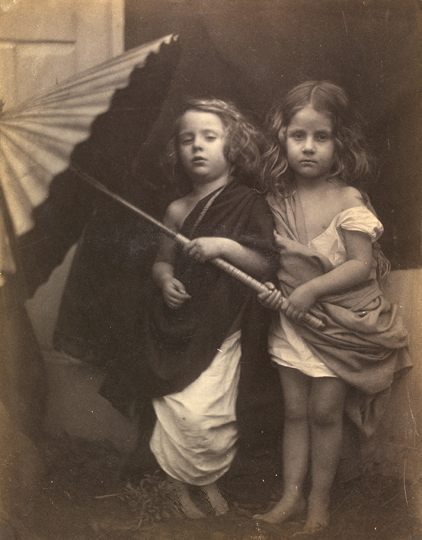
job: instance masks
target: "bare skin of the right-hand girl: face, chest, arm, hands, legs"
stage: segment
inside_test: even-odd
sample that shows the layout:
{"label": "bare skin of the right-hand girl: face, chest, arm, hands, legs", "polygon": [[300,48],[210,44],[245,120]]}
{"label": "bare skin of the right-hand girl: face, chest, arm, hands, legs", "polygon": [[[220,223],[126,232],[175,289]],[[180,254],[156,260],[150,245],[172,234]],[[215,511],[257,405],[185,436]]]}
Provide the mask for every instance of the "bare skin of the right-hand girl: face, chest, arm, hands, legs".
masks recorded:
{"label": "bare skin of the right-hand girl: face, chest, arm, hands, legs", "polygon": [[[302,204],[308,241],[323,233],[336,215],[364,206],[360,193],[343,179],[330,177],[335,159],[332,121],[311,105],[298,111],[286,130],[289,165]],[[271,283],[259,294],[264,306],[279,309],[300,321],[325,295],[343,293],[369,278],[372,242],[369,235],[343,231],[347,261],[331,272],[300,285],[282,301]],[[254,516],[281,523],[305,506],[303,484],[311,467],[304,532],[313,533],[329,522],[330,490],[336,474],[343,433],[346,384],[335,377],[310,377],[297,369],[278,366],[285,419],[283,436],[283,496],[269,512]]]}

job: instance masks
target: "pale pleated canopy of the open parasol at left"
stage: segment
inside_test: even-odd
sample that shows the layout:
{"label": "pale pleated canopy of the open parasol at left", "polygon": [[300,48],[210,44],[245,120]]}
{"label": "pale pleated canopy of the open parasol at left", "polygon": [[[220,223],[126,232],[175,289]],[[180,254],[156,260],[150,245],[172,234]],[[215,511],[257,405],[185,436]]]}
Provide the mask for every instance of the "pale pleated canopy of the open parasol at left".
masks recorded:
{"label": "pale pleated canopy of the open parasol at left", "polygon": [[[69,166],[72,151],[88,139],[93,120],[109,109],[117,89],[135,68],[176,39],[169,35],[141,45],[58,84],[0,118],[0,184],[14,234],[34,226],[32,211],[42,204],[56,174]],[[4,218],[0,217],[0,271],[14,272]],[[4,278],[0,276],[2,282]]]}

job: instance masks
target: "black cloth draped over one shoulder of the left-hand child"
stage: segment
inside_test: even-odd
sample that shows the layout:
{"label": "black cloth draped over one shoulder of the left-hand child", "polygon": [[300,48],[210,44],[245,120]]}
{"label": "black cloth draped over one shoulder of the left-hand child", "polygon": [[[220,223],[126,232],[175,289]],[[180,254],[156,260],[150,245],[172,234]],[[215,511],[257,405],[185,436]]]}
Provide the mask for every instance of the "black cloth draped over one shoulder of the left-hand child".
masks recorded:
{"label": "black cloth draped over one shoulder of the left-hand child", "polygon": [[[180,233],[191,238],[220,236],[236,240],[267,255],[275,272],[278,253],[274,223],[263,196],[233,180],[196,224],[210,197],[213,194],[199,201]],[[148,427],[144,426],[130,458],[131,466],[137,469],[140,463],[152,459],[149,437],[155,417],[150,410],[151,398],[181,390],[197,379],[226,336],[240,328],[242,355],[236,402],[240,440],[236,466],[225,482],[227,489],[229,485],[235,491],[238,485],[246,489],[245,480],[243,484],[233,480],[237,475],[244,478],[246,469],[251,485],[258,483],[252,481],[255,476],[262,484],[262,475],[273,470],[277,460],[274,452],[282,418],[280,383],[267,353],[271,312],[259,305],[256,292],[222,270],[187,258],[182,251],[178,251],[176,259],[175,276],[192,298],[182,308],[171,310],[163,302],[162,292],[149,280],[151,292],[149,298],[143,299],[136,369],[130,381],[123,372],[109,372],[101,393],[116,404],[132,388],[142,422],[148,417]]]}

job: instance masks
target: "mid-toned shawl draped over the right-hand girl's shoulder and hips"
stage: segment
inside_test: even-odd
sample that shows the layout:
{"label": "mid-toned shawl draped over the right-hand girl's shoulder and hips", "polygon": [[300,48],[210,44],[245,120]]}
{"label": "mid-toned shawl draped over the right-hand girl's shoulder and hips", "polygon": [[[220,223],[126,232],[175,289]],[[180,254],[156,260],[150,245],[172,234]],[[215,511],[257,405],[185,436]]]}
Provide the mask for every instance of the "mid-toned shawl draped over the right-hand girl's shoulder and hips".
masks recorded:
{"label": "mid-toned shawl draped over the right-hand girl's shoulder and hips", "polygon": [[[279,288],[284,296],[333,269],[317,249],[308,246],[300,200],[295,194],[270,201],[280,251]],[[374,258],[379,249],[374,246]],[[309,348],[351,386],[346,409],[353,422],[370,434],[383,414],[394,378],[411,367],[408,336],[397,306],[381,293],[376,265],[369,280],[344,294],[321,298],[311,309],[326,323],[322,330],[292,325]]]}

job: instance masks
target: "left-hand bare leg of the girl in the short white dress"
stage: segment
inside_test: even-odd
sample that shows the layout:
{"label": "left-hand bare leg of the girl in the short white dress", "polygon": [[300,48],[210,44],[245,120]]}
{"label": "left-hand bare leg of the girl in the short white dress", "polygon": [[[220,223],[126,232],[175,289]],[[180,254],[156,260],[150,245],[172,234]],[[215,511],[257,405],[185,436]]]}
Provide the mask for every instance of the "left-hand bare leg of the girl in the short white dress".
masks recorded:
{"label": "left-hand bare leg of the girl in the short white dress", "polygon": [[283,496],[266,514],[254,519],[269,523],[282,523],[305,505],[303,483],[309,463],[310,433],[307,418],[307,402],[310,377],[297,369],[278,366],[284,397],[283,430]]}

